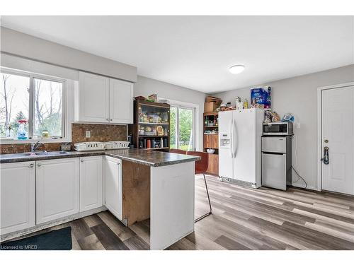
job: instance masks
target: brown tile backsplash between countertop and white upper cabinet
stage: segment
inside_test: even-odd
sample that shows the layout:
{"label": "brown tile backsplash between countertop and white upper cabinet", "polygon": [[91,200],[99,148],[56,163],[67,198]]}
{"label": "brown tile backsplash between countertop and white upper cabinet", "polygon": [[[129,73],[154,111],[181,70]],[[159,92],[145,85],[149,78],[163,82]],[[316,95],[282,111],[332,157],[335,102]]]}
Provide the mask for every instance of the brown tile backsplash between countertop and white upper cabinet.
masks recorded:
{"label": "brown tile backsplash between countertop and white upper cabinet", "polygon": [[[91,131],[90,138],[86,138],[86,131]],[[72,124],[72,150],[74,150],[74,143],[86,141],[127,141],[127,126],[113,124]],[[59,151],[61,144],[44,143],[38,150]],[[29,151],[29,143],[0,144],[0,154]]]}

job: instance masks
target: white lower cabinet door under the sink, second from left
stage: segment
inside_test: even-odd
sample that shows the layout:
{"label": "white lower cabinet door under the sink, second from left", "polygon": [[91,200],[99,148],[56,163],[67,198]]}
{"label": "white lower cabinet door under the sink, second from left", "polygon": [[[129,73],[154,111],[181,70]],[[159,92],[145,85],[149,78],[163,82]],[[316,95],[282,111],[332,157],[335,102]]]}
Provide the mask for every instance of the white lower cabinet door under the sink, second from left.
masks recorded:
{"label": "white lower cabinet door under the sink, second from left", "polygon": [[79,212],[79,158],[38,161],[36,223]]}

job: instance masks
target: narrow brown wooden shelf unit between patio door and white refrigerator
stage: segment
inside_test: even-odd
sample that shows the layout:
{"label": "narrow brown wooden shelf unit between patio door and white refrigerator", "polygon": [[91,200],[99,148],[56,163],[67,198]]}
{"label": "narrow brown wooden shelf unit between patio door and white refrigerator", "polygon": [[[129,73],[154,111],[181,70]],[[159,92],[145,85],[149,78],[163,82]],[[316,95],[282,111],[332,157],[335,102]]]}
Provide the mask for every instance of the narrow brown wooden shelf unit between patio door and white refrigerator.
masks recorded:
{"label": "narrow brown wooden shelf unit between patio door and white refrigerator", "polygon": [[214,149],[209,153],[207,174],[219,175],[219,124],[218,112],[205,112],[203,115],[203,151]]}

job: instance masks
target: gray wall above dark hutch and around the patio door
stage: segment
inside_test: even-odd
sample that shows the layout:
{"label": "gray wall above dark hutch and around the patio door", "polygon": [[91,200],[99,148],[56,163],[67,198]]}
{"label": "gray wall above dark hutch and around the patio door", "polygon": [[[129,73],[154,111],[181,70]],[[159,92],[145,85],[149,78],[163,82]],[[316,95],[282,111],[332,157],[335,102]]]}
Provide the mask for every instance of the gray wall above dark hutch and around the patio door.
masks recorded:
{"label": "gray wall above dark hutch and around the patio door", "polygon": [[134,85],[134,96],[148,96],[156,93],[159,98],[178,100],[199,105],[198,122],[198,149],[202,150],[202,114],[204,112],[205,93],[201,93],[171,83],[157,81],[144,76],[137,76],[137,83]]}

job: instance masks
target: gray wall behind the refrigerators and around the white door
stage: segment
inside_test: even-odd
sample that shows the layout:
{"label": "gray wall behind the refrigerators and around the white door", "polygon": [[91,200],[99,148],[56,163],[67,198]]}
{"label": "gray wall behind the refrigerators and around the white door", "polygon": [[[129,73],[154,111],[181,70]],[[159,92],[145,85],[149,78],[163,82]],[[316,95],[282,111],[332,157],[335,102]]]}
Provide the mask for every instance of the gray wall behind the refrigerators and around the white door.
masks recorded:
{"label": "gray wall behind the refrigerators and around the white door", "polygon": [[[297,164],[295,163],[295,141],[292,141],[292,165],[307,181],[309,189],[317,187],[317,88],[353,81],[354,64],[263,84],[272,87],[272,109],[278,112],[280,117],[291,112],[295,114],[295,124],[300,123],[300,129],[295,128]],[[242,100],[244,98],[250,100],[250,88],[230,90],[217,93],[215,96],[234,105],[236,96],[241,97]],[[297,180],[294,172],[292,179],[293,182]],[[302,187],[302,181],[294,185]]]}

